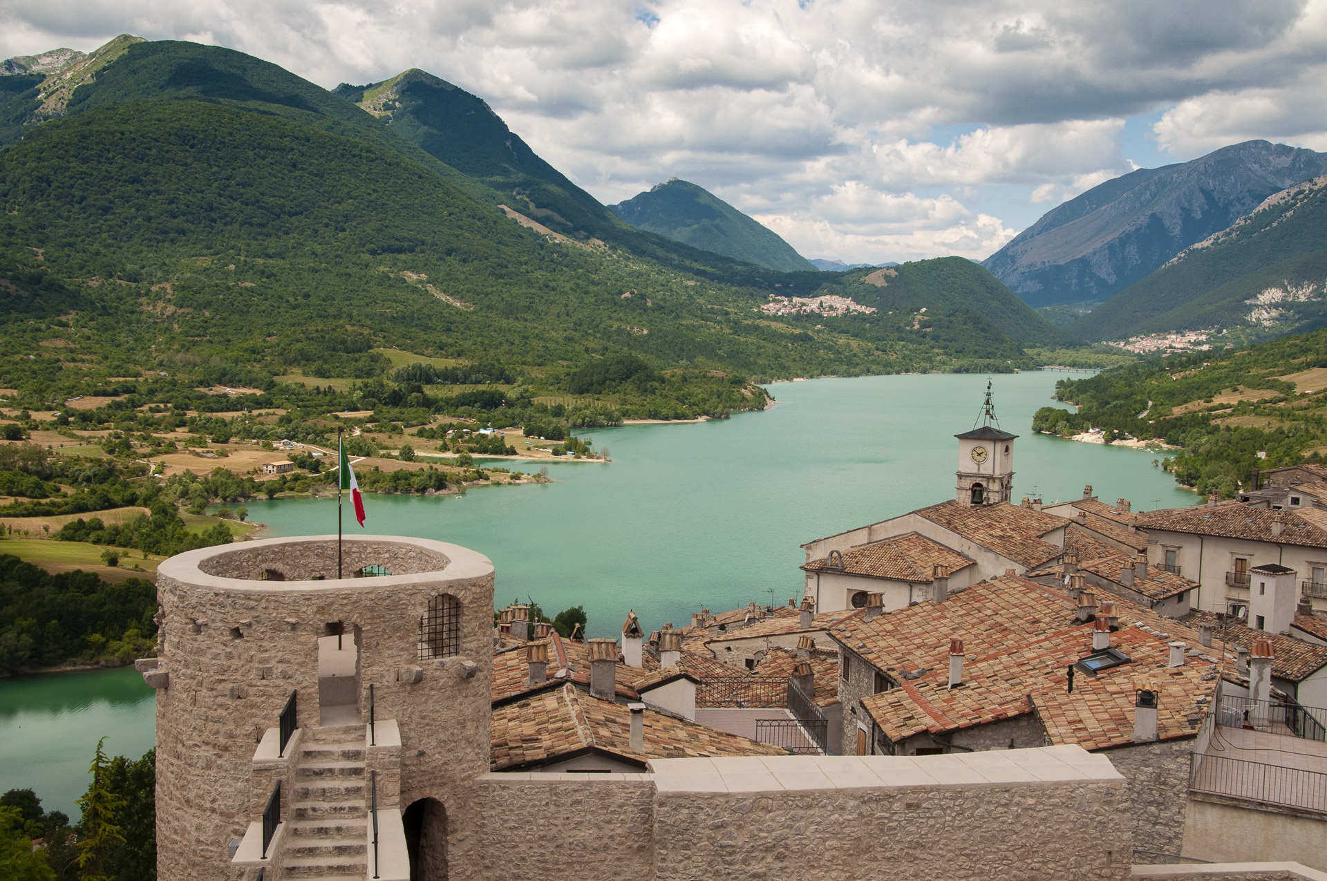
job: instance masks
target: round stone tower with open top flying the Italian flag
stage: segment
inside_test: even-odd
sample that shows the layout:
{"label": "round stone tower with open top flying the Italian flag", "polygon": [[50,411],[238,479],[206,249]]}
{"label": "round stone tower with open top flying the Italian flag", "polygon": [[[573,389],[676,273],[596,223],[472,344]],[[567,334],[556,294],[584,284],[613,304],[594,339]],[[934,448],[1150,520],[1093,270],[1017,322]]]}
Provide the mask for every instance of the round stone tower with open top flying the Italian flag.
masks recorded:
{"label": "round stone tower with open top flying the Italian flag", "polygon": [[[320,797],[307,785],[318,775],[358,774],[368,797],[365,764],[382,768],[380,804],[427,799],[464,815],[470,783],[488,770],[492,563],[442,541],[360,536],[345,539],[341,571],[334,536],[161,564],[158,659],[141,663],[158,689],[158,877],[249,877],[228,850],[252,854],[265,809],[297,827],[301,787]],[[320,754],[348,760],[312,764]]]}

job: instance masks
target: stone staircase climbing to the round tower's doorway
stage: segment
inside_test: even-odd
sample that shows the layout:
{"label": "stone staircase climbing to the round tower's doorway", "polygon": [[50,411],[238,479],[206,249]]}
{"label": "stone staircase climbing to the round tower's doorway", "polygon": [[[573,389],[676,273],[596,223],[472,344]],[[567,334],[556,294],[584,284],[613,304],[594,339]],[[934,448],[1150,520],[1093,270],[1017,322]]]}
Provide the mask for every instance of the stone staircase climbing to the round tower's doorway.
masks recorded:
{"label": "stone staircase climbing to the round tower's doorway", "polygon": [[305,728],[281,877],[366,878],[369,812],[362,724]]}

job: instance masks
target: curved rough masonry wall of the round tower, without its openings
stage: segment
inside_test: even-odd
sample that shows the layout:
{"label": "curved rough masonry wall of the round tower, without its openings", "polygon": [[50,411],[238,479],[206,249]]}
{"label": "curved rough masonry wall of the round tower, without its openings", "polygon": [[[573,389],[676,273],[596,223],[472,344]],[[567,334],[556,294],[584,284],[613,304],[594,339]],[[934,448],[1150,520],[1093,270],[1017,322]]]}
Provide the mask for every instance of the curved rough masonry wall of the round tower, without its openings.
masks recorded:
{"label": "curved rough masonry wall of the round tower, without its openings", "polygon": [[[366,549],[357,551],[361,541]],[[259,789],[271,775],[253,775],[252,762],[263,732],[277,724],[292,691],[297,726],[318,720],[317,640],[330,622],[344,622],[357,642],[365,719],[372,683],[377,718],[399,722],[403,803],[435,795],[450,812],[487,771],[492,564],[486,557],[422,539],[348,539],[346,559],[372,556],[394,572],[421,560],[445,560],[446,568],[340,581],[212,575],[251,575],[255,560],[285,559],[285,551],[296,561],[330,555],[334,565],[334,539],[272,539],[192,551],[159,567],[163,621],[154,673],[166,675],[157,693],[159,877],[223,877],[227,843],[244,835],[259,819],[253,807],[265,801]],[[419,620],[439,593],[460,601],[460,653],[419,661]],[[283,815],[289,820],[289,800]]]}

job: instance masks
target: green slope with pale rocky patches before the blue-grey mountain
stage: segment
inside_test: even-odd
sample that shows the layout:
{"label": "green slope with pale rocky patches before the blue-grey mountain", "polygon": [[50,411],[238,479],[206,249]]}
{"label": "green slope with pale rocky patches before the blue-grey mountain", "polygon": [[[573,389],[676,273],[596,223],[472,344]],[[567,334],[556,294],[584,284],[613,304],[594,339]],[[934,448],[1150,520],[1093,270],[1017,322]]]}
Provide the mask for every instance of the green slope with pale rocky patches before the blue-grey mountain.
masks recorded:
{"label": "green slope with pale rocky patches before the blue-grey mountain", "polygon": [[1072,325],[1093,340],[1184,329],[1266,337],[1327,324],[1327,175],[1289,187]]}

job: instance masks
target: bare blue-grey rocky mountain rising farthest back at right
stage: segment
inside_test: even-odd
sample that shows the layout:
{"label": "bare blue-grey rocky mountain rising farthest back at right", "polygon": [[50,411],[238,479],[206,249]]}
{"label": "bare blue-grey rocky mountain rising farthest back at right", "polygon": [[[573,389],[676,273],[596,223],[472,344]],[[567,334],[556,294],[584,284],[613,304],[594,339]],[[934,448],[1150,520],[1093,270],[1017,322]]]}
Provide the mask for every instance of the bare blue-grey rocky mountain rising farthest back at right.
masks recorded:
{"label": "bare blue-grey rocky mountain rising farthest back at right", "polygon": [[1048,211],[982,265],[1034,306],[1101,303],[1320,174],[1327,154],[1266,141],[1140,169]]}

